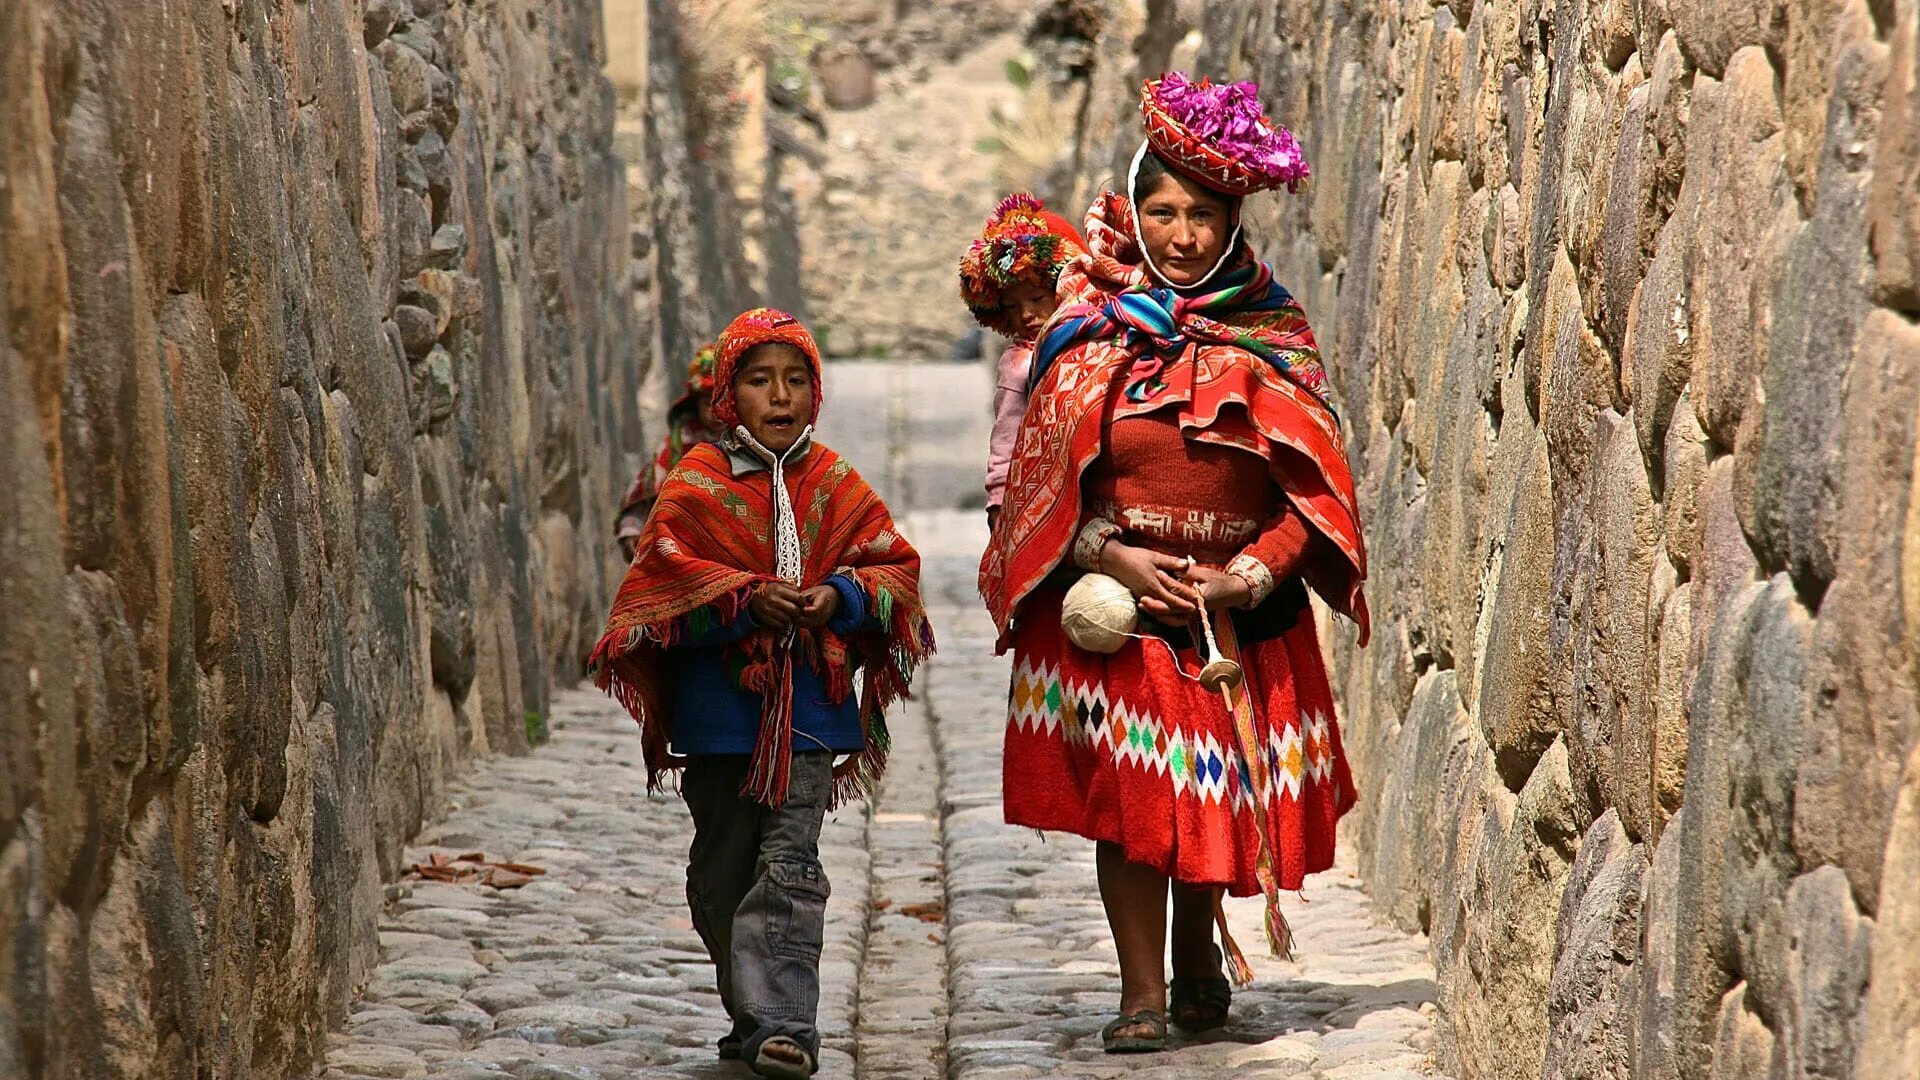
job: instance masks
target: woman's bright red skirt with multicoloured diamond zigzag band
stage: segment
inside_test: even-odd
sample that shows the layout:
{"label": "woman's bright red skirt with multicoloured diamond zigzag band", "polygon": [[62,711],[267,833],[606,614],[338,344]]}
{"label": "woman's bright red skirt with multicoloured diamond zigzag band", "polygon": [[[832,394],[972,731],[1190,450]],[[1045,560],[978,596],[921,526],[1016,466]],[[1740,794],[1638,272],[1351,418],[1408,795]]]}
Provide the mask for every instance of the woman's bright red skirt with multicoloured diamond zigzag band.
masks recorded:
{"label": "woman's bright red skirt with multicoloured diamond zigzag band", "polygon": [[[1085,651],[1060,630],[1064,596],[1043,584],[1014,628],[1008,824],[1104,840],[1175,880],[1260,894],[1252,784],[1233,715],[1198,682],[1200,657],[1160,638]],[[1240,667],[1267,757],[1275,878],[1298,890],[1332,865],[1334,826],[1356,796],[1313,613],[1275,638],[1242,638]]]}

